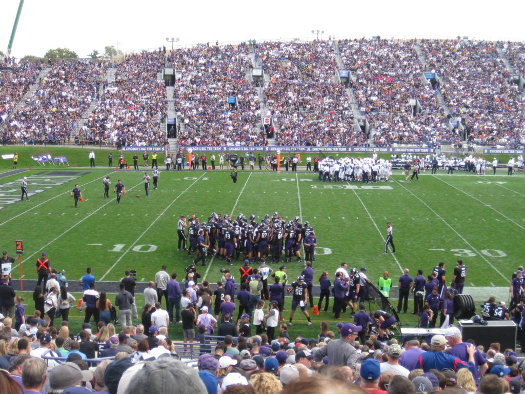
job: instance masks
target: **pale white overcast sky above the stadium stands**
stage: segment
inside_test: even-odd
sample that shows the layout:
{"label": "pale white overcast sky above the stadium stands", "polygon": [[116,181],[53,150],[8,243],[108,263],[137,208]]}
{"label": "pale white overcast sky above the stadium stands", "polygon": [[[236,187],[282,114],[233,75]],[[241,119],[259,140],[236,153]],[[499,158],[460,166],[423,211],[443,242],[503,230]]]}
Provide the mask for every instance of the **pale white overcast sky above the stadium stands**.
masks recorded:
{"label": "pale white overcast sky above the stadium stands", "polygon": [[[4,0],[0,12],[0,50],[6,53],[18,0]],[[66,47],[79,57],[114,45],[124,52],[171,44],[238,42],[250,38],[468,36],[523,42],[521,1],[499,4],[450,1],[121,1],[25,0],[12,56],[44,56]]]}

